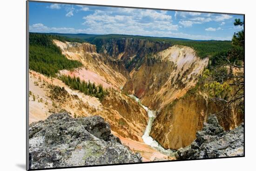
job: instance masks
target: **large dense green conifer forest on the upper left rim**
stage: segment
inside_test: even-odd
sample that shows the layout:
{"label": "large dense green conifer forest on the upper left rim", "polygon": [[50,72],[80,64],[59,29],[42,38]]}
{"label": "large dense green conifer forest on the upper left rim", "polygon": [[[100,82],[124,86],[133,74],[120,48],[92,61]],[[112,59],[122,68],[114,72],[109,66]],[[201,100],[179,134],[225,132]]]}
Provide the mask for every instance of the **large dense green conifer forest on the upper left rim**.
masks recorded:
{"label": "large dense green conifer forest on the upper left rim", "polygon": [[46,76],[55,76],[59,70],[72,70],[82,63],[69,60],[61,54],[61,49],[53,43],[53,39],[68,39],[37,33],[29,33],[29,69]]}

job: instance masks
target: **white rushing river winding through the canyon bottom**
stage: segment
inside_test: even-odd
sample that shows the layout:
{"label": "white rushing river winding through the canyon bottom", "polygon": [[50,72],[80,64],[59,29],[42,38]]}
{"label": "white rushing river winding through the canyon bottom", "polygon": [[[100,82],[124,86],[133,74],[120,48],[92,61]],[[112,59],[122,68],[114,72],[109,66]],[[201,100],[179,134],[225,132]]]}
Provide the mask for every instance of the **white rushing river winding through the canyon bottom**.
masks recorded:
{"label": "white rushing river winding through the canyon bottom", "polygon": [[[137,98],[135,95],[129,95],[131,98],[134,98],[135,101],[137,102],[140,102],[140,99]],[[173,151],[170,150],[170,149],[165,149],[163,148],[155,139],[153,139],[151,136],[149,136],[149,133],[151,132],[151,128],[152,128],[152,125],[153,125],[153,121],[155,120],[155,111],[152,111],[152,110],[149,110],[146,106],[142,105],[141,106],[147,111],[148,113],[148,125],[145,129],[145,132],[144,134],[142,135],[142,139],[143,141],[155,148],[156,150],[158,150],[159,152],[163,153],[163,154],[166,154],[166,155],[170,155]]]}

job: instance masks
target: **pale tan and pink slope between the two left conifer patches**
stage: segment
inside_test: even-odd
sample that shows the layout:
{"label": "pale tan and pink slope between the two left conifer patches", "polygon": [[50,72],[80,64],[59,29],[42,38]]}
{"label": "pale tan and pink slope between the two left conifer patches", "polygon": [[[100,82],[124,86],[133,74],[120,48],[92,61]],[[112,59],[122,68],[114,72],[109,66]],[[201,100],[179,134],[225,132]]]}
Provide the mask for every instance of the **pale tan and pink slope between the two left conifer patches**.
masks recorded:
{"label": "pale tan and pink slope between the two left conifer patches", "polygon": [[94,79],[95,83],[101,83],[105,87],[120,88],[127,78],[118,71],[120,66],[107,57],[96,52],[96,46],[88,43],[63,43],[54,40],[62,53],[72,60],[80,61],[84,67],[74,71],[62,71],[67,75],[76,75],[84,80]]}

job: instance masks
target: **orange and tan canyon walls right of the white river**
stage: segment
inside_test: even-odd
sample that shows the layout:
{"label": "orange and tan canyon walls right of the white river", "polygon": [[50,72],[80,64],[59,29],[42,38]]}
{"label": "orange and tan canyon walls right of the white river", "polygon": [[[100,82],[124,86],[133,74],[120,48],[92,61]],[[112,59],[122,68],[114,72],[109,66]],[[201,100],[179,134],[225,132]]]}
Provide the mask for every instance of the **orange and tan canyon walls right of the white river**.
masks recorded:
{"label": "orange and tan canyon walls right of the white river", "polygon": [[[190,145],[209,114],[219,111],[219,106],[200,92],[186,95],[208,61],[209,58],[197,57],[190,47],[171,46],[145,60],[139,69],[130,73],[131,79],[124,85],[125,92],[137,96],[142,104],[156,111],[149,135],[166,149]],[[243,115],[234,110],[225,118],[217,117],[226,130],[243,121]]]}

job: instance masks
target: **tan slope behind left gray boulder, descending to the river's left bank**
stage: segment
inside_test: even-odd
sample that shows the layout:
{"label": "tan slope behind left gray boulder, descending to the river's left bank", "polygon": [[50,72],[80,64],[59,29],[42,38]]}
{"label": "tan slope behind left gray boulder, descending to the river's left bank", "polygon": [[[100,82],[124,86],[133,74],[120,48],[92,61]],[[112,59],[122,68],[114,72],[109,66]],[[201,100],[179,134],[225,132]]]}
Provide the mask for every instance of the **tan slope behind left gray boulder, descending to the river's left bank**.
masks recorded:
{"label": "tan slope behind left gray boulder, descending to the river's left bank", "polygon": [[[55,98],[52,85],[64,87],[66,95]],[[141,149],[143,161],[168,158],[143,142],[141,136],[147,125],[147,113],[136,101],[119,91],[110,91],[108,98],[101,103],[95,97],[70,89],[61,80],[33,70],[29,72],[29,91],[29,123],[45,120],[49,115],[64,110],[73,117],[100,115],[124,145],[134,152]]]}

